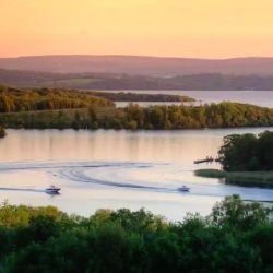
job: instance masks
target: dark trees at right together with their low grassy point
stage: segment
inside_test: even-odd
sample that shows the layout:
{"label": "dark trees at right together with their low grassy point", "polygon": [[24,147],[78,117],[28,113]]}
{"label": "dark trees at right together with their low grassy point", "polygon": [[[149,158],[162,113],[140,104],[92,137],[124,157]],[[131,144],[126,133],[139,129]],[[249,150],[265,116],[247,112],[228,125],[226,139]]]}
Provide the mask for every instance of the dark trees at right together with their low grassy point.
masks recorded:
{"label": "dark trees at right together with their low grassy point", "polygon": [[225,178],[227,183],[273,188],[273,132],[225,136],[218,161],[223,170],[199,169],[195,174]]}

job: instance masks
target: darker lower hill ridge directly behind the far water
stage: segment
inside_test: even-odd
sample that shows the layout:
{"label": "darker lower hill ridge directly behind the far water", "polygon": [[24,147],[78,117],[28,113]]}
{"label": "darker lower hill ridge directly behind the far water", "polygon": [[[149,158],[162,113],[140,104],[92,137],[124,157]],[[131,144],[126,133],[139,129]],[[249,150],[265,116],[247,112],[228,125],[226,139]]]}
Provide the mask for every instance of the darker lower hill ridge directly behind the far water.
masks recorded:
{"label": "darker lower hill ridge directly behind the far water", "polygon": [[269,90],[273,75],[192,74],[150,76],[110,73],[50,73],[0,69],[0,84],[80,90]]}

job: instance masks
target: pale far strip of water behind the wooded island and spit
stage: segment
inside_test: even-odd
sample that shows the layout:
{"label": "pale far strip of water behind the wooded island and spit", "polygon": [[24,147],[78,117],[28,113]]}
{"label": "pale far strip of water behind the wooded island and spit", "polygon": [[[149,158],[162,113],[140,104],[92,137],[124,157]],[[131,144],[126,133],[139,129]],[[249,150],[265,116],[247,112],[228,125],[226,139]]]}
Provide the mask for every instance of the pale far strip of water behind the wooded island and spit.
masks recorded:
{"label": "pale far strip of water behind the wooded island and spit", "polygon": [[[197,104],[238,102],[246,104],[256,104],[259,106],[273,108],[273,91],[130,91],[133,93],[147,94],[173,94],[186,95],[195,98]],[[123,107],[128,103],[117,103],[117,106]],[[143,106],[158,103],[139,103]],[[164,103],[169,104],[169,103]],[[175,103],[176,104],[176,103]]]}

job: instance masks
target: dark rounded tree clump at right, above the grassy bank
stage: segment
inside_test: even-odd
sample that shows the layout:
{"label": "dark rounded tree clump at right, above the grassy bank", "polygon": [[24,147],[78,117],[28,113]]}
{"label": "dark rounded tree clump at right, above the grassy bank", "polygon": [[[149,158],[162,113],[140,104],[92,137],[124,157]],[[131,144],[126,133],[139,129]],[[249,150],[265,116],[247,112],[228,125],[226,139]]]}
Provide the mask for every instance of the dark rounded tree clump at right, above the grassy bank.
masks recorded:
{"label": "dark rounded tree clump at right, above the grassy bank", "polygon": [[273,132],[225,136],[219,161],[228,171],[273,170]]}

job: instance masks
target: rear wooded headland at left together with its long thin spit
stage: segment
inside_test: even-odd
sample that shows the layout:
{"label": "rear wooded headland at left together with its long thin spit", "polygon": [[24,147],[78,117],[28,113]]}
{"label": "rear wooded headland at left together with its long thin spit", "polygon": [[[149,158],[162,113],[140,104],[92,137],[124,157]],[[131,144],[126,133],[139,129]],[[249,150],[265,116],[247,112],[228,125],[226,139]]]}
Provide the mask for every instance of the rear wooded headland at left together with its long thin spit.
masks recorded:
{"label": "rear wooded headland at left together with its long thin spit", "polygon": [[115,106],[120,102],[194,102],[193,98],[167,94],[111,93],[61,88],[20,90],[0,86],[0,112],[56,110]]}

